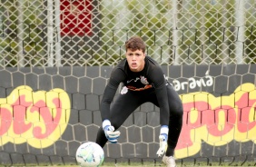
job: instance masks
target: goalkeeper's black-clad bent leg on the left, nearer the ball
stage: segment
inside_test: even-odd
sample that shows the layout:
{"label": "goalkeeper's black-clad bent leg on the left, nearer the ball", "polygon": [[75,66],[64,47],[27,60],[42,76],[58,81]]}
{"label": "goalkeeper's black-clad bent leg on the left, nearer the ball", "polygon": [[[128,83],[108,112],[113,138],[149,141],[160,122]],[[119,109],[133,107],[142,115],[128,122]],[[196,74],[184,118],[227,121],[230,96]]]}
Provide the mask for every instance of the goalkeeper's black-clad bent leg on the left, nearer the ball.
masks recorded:
{"label": "goalkeeper's black-clad bent leg on the left, nearer the ball", "polygon": [[[128,91],[128,93],[125,94],[119,94],[113,101],[110,109],[110,122],[114,129],[117,130],[141,103],[140,96],[132,91]],[[106,142],[107,139],[103,132],[103,128],[100,127],[97,133],[96,143],[103,147]]]}

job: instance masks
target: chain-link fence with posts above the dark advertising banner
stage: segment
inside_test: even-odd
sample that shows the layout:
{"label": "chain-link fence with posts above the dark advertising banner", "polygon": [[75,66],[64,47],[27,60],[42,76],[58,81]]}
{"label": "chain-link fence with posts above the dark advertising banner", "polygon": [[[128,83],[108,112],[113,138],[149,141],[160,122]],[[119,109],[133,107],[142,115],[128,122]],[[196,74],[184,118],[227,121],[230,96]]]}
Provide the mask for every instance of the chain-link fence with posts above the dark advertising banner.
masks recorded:
{"label": "chain-link fence with posts above the dark advertising banner", "polygon": [[255,0],[1,0],[0,65],[113,65],[140,35],[161,64],[255,64]]}

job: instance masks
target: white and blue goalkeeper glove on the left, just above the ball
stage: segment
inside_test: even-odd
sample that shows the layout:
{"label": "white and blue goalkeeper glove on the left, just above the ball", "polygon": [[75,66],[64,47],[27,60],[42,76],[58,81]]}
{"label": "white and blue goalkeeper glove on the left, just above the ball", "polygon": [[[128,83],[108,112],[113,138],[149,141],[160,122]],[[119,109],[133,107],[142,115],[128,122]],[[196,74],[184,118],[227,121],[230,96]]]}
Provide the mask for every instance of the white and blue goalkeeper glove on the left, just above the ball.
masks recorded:
{"label": "white and blue goalkeeper glove on the left, just above the ball", "polygon": [[109,140],[112,143],[117,142],[117,139],[120,136],[120,132],[119,131],[114,132],[114,127],[111,125],[109,120],[103,121],[103,131],[105,133],[107,140]]}

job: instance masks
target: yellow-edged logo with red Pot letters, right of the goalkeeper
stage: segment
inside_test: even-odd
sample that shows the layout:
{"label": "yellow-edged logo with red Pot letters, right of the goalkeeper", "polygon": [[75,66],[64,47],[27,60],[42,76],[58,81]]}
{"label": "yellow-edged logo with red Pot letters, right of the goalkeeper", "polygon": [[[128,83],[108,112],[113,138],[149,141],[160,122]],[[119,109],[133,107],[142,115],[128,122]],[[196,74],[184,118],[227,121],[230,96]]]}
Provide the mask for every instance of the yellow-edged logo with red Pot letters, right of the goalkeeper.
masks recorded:
{"label": "yellow-edged logo with red Pot letters, right of the goalkeeper", "polygon": [[[222,146],[231,141],[256,143],[256,89],[243,83],[230,95],[187,93],[183,103],[182,133],[176,158],[200,152],[202,142]],[[172,132],[170,132],[172,133]]]}

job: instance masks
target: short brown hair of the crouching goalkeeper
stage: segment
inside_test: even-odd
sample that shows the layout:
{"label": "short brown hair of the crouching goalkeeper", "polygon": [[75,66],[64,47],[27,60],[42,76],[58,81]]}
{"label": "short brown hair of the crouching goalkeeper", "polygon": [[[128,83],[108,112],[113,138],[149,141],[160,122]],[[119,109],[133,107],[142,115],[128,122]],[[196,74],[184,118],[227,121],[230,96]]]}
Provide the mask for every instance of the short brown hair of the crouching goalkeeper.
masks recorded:
{"label": "short brown hair of the crouching goalkeeper", "polygon": [[125,42],[125,49],[131,49],[132,51],[142,50],[145,53],[146,44],[140,36],[133,36]]}

